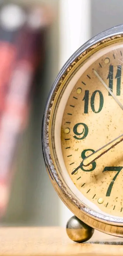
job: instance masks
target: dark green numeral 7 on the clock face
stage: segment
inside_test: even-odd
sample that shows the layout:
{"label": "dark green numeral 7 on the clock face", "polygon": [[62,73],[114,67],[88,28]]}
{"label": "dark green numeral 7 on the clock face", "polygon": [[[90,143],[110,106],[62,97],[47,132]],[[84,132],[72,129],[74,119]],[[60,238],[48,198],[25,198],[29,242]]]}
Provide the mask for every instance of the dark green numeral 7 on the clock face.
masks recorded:
{"label": "dark green numeral 7 on the clock face", "polygon": [[115,174],[114,178],[112,179],[112,181],[110,182],[110,185],[107,189],[107,193],[106,193],[106,197],[110,197],[110,193],[111,190],[113,188],[113,184],[115,182],[115,179],[117,178],[118,174],[120,173],[120,171],[122,170],[123,166],[106,166],[103,170],[104,171],[117,171],[117,173]]}

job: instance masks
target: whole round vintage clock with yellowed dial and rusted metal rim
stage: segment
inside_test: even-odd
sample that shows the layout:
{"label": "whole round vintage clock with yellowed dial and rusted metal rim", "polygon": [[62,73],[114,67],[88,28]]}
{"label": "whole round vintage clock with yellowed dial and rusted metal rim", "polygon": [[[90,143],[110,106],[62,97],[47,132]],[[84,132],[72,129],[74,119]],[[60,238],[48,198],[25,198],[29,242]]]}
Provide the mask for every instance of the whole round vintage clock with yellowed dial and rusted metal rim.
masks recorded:
{"label": "whole round vintage clock with yellowed dial and rusted metal rim", "polygon": [[42,145],[51,182],[64,204],[86,226],[121,237],[122,120],[120,25],[87,41],[61,69],[46,103]]}

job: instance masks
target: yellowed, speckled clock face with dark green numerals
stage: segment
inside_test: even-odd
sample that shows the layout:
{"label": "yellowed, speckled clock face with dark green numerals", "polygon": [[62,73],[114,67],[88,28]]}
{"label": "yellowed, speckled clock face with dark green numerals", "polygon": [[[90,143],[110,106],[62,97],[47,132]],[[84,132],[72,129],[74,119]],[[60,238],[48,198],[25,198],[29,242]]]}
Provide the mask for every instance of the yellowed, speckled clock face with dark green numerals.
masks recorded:
{"label": "yellowed, speckled clock face with dark green numerals", "polygon": [[70,83],[58,113],[65,171],[93,209],[122,217],[123,142],[114,146],[123,138],[122,43],[94,53]]}

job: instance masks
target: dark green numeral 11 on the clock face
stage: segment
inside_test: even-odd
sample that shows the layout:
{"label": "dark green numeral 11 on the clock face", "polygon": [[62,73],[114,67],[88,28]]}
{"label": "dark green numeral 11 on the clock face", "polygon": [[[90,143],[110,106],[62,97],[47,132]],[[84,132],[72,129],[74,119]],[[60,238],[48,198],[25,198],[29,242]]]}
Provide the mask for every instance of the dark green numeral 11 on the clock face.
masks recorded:
{"label": "dark green numeral 11 on the clock face", "polygon": [[[109,73],[107,76],[107,79],[109,79],[109,88],[111,91],[113,91],[113,74],[114,74],[113,68],[114,68],[113,65],[109,66]],[[121,68],[122,68],[121,65],[117,66],[117,73],[115,76],[115,79],[117,79],[117,92],[116,92],[117,96],[121,95]],[[110,92],[108,93],[108,95],[109,96],[111,95]]]}

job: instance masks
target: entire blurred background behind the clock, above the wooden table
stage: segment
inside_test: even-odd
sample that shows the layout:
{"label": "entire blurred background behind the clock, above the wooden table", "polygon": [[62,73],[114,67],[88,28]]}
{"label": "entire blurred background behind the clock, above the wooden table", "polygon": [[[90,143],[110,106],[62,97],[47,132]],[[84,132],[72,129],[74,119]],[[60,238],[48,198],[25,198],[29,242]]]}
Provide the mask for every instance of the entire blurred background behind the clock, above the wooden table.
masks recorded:
{"label": "entire blurred background behind the clock, above the wooden table", "polygon": [[120,0],[0,1],[1,225],[65,226],[72,216],[45,169],[44,107],[63,64],[123,23],[122,9]]}

